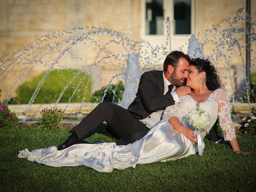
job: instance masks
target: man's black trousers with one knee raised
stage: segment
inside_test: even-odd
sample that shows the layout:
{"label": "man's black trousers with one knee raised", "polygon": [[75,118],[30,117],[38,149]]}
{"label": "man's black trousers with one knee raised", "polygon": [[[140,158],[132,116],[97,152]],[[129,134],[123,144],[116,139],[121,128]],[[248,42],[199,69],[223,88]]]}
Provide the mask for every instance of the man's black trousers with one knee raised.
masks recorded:
{"label": "man's black trousers with one knee raised", "polygon": [[112,102],[100,103],[73,130],[78,138],[82,139],[104,121],[108,123],[108,132],[117,138],[121,138],[116,142],[118,145],[133,143],[150,130],[132,116],[128,110]]}

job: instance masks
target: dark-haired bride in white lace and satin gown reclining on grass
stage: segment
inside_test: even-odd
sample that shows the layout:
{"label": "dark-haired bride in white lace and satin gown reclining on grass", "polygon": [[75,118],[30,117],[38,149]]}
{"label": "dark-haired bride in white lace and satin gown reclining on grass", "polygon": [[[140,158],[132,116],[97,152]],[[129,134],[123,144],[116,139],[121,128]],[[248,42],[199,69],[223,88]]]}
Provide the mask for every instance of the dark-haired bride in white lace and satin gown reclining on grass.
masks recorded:
{"label": "dark-haired bride in white lace and satin gown reclining on grass", "polygon": [[[249,154],[239,148],[230,116],[228,97],[221,88],[212,63],[200,58],[193,59],[188,72],[186,86],[194,91],[182,96],[180,103],[168,106],[164,110],[162,120],[140,140],[126,146],[99,143],[75,144],[64,150],[57,150],[55,146],[32,152],[25,149],[20,151],[18,157],[55,167],[84,165],[98,172],[112,172],[114,168],[135,168],[136,164],[184,158],[198,152],[198,147],[194,147],[197,136],[185,121],[186,115],[198,106],[210,116],[210,126],[201,132],[202,138],[219,117],[224,139],[230,142],[234,152]],[[204,148],[203,142],[202,147]]]}

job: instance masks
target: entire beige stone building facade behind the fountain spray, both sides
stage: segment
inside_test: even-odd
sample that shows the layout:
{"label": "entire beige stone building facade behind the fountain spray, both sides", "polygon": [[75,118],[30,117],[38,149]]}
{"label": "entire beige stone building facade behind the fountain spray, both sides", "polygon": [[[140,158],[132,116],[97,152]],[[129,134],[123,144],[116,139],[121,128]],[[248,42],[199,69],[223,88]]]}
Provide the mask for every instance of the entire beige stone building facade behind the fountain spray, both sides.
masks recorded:
{"label": "entire beige stone building facade behind the fountain spray, both sides", "polygon": [[[166,32],[162,37],[145,35],[145,5],[152,0],[0,0],[0,56],[18,50],[30,42],[42,38],[46,34],[73,28],[75,26],[95,26],[115,30],[124,34],[128,38],[139,41],[146,38],[152,42],[164,43]],[[173,3],[175,0],[163,0],[164,17],[172,14]],[[191,0],[191,34],[196,35],[199,40],[203,39],[206,30],[211,29],[212,25],[218,24],[225,18],[232,18],[239,8],[246,7],[246,0]],[[256,1],[251,1],[251,15],[256,18]],[[172,17],[171,17],[172,18]],[[225,25],[225,24],[224,24]],[[245,22],[241,27],[245,26]],[[224,26],[226,27],[226,26]],[[179,49],[180,44],[184,52],[187,51],[187,44],[184,41],[190,38],[191,34],[178,36],[172,33],[171,20],[171,40],[172,49]],[[108,40],[108,37],[101,37]],[[244,37],[243,37],[244,38]],[[244,44],[243,44],[244,45]],[[251,57],[255,58],[256,45],[251,45]],[[122,52],[120,48],[112,47],[116,51]],[[204,54],[210,55],[213,46],[206,45]],[[149,53],[150,54],[150,53]],[[242,50],[245,58],[245,50]],[[159,61],[159,66],[162,65]],[[218,68],[225,80],[226,63],[220,60]],[[234,59],[230,63],[230,75],[235,76],[236,70],[241,71],[242,61],[238,52],[235,52]],[[69,66],[70,67],[70,66]],[[72,66],[71,66],[72,68]],[[80,66],[74,66],[80,68]],[[255,64],[252,66],[255,70]],[[148,68],[152,69],[152,67]],[[22,67],[15,68],[2,80],[0,89],[2,96],[12,86],[12,79],[22,70]],[[25,80],[31,80],[33,76],[44,70],[38,67],[32,70]],[[94,90],[100,89],[108,84],[112,76],[118,72],[118,66],[101,65],[94,72]],[[242,74],[240,74],[242,76]],[[242,77],[241,77],[242,78]],[[228,85],[228,92],[233,92],[232,88],[236,85]],[[2,98],[1,98],[2,99]]]}

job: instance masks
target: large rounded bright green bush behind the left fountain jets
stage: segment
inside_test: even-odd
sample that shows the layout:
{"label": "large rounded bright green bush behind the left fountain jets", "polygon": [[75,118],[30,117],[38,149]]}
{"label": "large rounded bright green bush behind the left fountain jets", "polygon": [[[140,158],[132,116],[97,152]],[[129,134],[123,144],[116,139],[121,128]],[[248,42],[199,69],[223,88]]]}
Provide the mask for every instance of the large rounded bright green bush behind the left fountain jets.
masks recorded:
{"label": "large rounded bright green bush behind the left fountain jets", "polygon": [[[58,97],[64,90],[64,88],[70,83],[72,78],[78,70],[53,70],[51,71],[46,80],[44,81],[42,87],[40,88],[34,103],[54,103],[58,100]],[[17,90],[18,103],[27,104],[30,101],[36,87],[42,80],[45,72],[40,75],[34,77],[32,81],[24,82]],[[81,72],[73,82],[68,86],[66,91],[64,92],[62,98],[60,99],[60,103],[68,102],[69,98],[72,96],[76,86],[78,85],[80,79],[82,79],[85,75],[85,72]],[[74,94],[71,102],[82,102],[82,98],[84,95],[84,90],[86,90],[84,102],[90,101],[91,94],[90,90],[92,87],[92,83],[89,75],[87,75],[78,89]]]}

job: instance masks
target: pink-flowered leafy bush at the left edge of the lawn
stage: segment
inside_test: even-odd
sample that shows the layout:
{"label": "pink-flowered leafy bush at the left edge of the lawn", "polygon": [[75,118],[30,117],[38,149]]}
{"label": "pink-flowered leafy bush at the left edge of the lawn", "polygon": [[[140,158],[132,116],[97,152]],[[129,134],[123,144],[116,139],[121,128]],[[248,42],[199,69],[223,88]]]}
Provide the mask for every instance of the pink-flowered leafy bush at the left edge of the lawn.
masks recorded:
{"label": "pink-flowered leafy bush at the left edge of the lawn", "polygon": [[14,126],[18,120],[16,114],[10,112],[7,105],[0,104],[0,128]]}

